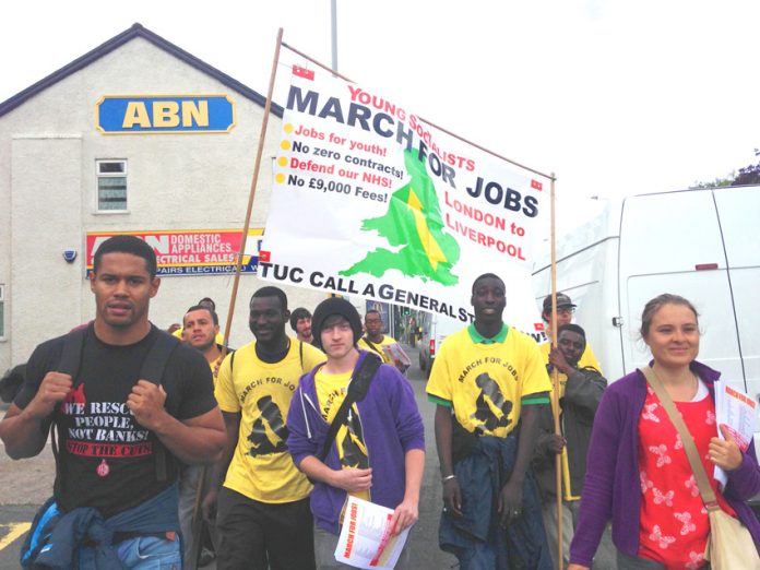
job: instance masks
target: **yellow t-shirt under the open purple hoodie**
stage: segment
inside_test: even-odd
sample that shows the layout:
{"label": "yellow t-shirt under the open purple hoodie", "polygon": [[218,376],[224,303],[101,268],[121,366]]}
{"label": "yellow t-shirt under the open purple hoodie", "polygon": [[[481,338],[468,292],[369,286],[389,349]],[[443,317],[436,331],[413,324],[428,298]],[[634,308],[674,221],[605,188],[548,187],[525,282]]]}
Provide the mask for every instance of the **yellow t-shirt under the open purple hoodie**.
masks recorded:
{"label": "yellow t-shirt under the open purple hoodie", "polygon": [[[320,368],[314,375],[319,413],[328,424],[333,423],[335,414],[337,414],[337,411],[343,405],[343,401],[346,399],[351,375],[352,372],[329,375],[324,372],[324,368]],[[346,423],[337,429],[335,443],[342,468],[356,467],[366,470],[369,467],[369,453],[364,440],[361,419],[359,418],[356,404],[351,406]],[[370,500],[369,490],[352,492],[351,495],[366,501]]]}

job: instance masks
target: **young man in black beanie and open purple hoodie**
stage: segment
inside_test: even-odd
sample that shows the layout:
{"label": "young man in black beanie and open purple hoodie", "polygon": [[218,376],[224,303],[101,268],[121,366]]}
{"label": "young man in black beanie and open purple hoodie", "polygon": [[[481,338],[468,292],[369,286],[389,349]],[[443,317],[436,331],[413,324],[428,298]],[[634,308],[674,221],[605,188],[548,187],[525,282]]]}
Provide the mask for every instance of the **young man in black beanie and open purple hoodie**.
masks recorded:
{"label": "young man in black beanie and open purple hoodie", "polygon": [[[393,509],[397,534],[418,518],[425,436],[414,392],[390,365],[379,365],[364,397],[354,403],[325,456],[328,430],[349,382],[373,353],[359,351],[359,313],[347,300],[322,301],[312,318],[316,342],[328,361],[301,378],[287,416],[293,460],[314,482],[311,512],[318,568],[351,568],[335,561],[347,495]],[[407,551],[396,568],[411,568]]]}

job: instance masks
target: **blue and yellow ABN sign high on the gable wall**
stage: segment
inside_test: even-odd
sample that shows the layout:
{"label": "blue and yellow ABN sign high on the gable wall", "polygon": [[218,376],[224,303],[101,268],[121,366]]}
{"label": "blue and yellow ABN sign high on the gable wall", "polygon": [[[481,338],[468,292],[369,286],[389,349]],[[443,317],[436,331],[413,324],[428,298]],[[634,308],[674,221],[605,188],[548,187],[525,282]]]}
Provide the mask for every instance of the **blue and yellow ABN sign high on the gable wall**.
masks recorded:
{"label": "blue and yellow ABN sign high on the gable wall", "polygon": [[104,134],[229,132],[235,102],[227,95],[104,95],[95,127]]}

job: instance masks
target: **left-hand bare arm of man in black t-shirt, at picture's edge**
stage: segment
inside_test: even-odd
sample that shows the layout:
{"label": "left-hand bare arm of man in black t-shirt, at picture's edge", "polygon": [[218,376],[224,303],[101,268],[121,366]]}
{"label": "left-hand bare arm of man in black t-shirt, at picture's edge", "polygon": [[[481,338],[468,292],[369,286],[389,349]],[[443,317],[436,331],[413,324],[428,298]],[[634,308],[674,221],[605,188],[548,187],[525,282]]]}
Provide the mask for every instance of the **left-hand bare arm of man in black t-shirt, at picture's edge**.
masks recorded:
{"label": "left-hand bare arm of man in black t-shirt, at picture's edge", "polygon": [[60,372],[45,375],[37,393],[21,409],[15,404],[8,408],[0,421],[0,439],[11,459],[33,458],[45,448],[56,405],[71,391],[71,377]]}

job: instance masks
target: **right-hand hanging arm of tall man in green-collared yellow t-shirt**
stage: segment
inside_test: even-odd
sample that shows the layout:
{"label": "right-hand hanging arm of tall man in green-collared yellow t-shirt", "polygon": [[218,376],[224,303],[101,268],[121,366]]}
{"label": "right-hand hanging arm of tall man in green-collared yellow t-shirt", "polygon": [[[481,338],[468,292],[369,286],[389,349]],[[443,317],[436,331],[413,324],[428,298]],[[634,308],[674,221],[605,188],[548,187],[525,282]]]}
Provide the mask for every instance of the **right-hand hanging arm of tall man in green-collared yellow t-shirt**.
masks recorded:
{"label": "right-hand hanging arm of tall man in green-collared yellow t-shirt", "polygon": [[[532,394],[532,397],[548,399],[548,392]],[[522,514],[523,483],[525,482],[525,472],[531,463],[533,449],[538,437],[538,416],[544,405],[531,404],[522,407],[518,456],[514,460],[512,474],[499,494],[499,514],[502,526],[507,526],[511,519]]]}

